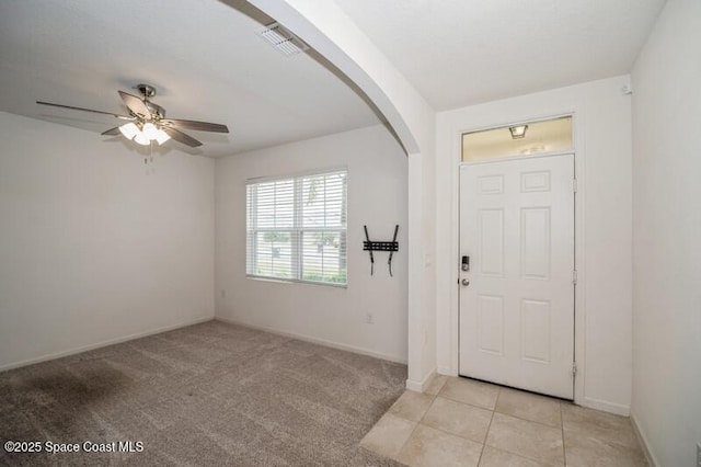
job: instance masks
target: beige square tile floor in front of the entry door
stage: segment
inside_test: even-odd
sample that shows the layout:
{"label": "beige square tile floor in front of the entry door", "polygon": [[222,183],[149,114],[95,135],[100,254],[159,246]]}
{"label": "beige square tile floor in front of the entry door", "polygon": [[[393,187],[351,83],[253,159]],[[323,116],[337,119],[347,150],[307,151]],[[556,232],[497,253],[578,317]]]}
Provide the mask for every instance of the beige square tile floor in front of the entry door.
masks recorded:
{"label": "beige square tile floor in front of the entry door", "polygon": [[467,378],[405,391],[360,445],[409,466],[646,466],[628,418]]}

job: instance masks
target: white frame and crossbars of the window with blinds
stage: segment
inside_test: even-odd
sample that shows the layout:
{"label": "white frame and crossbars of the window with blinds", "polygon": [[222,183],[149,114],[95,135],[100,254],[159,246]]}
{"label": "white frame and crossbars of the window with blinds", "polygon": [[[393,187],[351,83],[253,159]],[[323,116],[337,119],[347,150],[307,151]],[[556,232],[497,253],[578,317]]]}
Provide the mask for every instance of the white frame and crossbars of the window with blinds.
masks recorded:
{"label": "white frame and crossbars of the window with blinds", "polygon": [[[304,227],[302,223],[302,203],[303,203],[303,180],[307,178],[331,175],[334,173],[343,173],[345,175],[345,185],[342,192],[342,205],[345,210],[342,210],[342,218],[345,219],[345,224],[338,228],[313,228]],[[292,226],[289,228],[280,227],[254,227],[250,228],[250,221],[252,214],[249,212],[252,207],[250,201],[250,186],[272,183],[279,181],[292,181],[294,195],[292,195]],[[257,215],[257,200],[254,200],[255,210],[253,217]],[[254,221],[255,223],[255,221]],[[252,271],[256,270],[256,252],[257,252],[257,235],[261,232],[286,232],[290,236],[290,269],[294,271],[294,277],[278,277],[273,275],[255,274]],[[345,262],[345,282],[324,282],[324,281],[311,281],[303,278],[303,238],[304,234],[309,232],[337,232],[340,236],[340,242],[345,247],[343,261]],[[245,276],[256,281],[266,282],[281,282],[281,283],[300,283],[311,285],[322,285],[338,288],[348,287],[348,168],[347,167],[333,167],[312,171],[297,172],[295,174],[275,175],[275,176],[258,176],[248,179],[245,182]],[[342,246],[338,246],[342,249]],[[340,250],[341,251],[341,250]],[[341,254],[341,253],[340,253]]]}

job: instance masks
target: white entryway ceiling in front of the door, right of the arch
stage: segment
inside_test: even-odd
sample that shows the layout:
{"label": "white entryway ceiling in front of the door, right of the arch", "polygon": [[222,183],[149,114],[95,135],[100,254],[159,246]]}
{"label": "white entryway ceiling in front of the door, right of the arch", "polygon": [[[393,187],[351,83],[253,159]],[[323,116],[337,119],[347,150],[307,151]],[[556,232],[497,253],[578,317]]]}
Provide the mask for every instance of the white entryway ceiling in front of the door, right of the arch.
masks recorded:
{"label": "white entryway ceiling in front of the door, right of the arch", "polygon": [[630,72],[664,0],[336,0],[436,110]]}

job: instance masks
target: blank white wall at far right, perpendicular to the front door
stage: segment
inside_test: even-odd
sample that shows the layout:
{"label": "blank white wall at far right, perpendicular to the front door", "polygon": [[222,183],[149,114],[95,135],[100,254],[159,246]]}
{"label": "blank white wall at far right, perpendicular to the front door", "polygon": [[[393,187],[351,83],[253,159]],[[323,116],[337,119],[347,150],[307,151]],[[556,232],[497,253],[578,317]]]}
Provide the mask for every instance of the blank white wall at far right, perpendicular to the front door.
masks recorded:
{"label": "blank white wall at far right, perpendicular to the front door", "polygon": [[633,407],[659,466],[701,443],[701,2],[670,0],[633,68]]}

